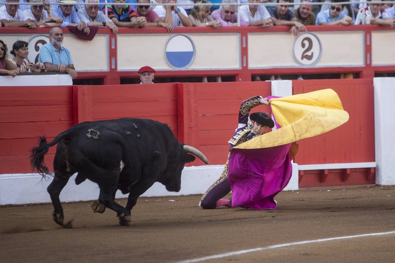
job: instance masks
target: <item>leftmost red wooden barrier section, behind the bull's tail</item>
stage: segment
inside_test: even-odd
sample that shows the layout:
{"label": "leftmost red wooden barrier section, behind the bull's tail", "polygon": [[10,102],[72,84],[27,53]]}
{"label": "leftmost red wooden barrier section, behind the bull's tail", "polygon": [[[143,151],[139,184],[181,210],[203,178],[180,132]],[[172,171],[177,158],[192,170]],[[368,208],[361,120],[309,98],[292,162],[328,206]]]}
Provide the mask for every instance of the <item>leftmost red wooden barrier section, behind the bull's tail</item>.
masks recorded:
{"label": "leftmost red wooden barrier section, behind the bull's tail", "polygon": [[[72,86],[0,87],[0,174],[31,172],[37,136],[52,140],[72,126]],[[45,157],[52,164],[55,147]]]}

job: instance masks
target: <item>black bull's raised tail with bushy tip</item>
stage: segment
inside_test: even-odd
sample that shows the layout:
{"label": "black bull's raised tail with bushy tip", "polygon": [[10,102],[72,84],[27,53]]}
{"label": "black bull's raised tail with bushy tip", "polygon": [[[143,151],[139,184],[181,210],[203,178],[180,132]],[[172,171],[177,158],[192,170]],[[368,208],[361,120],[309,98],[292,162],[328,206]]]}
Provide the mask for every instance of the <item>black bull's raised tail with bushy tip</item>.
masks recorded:
{"label": "black bull's raised tail with bushy tip", "polygon": [[56,145],[60,140],[64,139],[68,134],[68,131],[61,132],[55,139],[47,143],[45,136],[40,137],[37,147],[33,147],[30,150],[30,164],[32,165],[32,170],[36,168],[37,172],[40,173],[43,177],[49,174],[49,170],[44,163],[44,156],[47,154],[49,147]]}

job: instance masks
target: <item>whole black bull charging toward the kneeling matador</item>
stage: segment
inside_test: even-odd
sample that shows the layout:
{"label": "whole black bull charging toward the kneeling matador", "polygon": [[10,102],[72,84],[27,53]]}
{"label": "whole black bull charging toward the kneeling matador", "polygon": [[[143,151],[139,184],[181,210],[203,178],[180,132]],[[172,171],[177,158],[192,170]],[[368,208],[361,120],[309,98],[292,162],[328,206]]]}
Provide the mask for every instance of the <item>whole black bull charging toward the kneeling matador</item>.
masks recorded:
{"label": "whole black bull charging toward the kneeling matador", "polygon": [[[30,161],[43,176],[49,173],[44,155],[55,144],[58,144],[53,162],[55,175],[47,190],[55,209],[53,220],[62,226],[64,215],[59,195],[76,172],[77,185],[89,179],[100,187],[99,203],[94,203],[92,209],[103,213],[108,207],[117,212],[119,224],[128,226],[137,198],[155,182],[165,185],[168,191],[178,192],[185,163],[194,161],[194,155],[208,163],[200,151],[179,143],[166,124],[150,119],[83,122],[61,132],[50,143],[41,137],[38,147],[31,150]],[[126,207],[114,201],[117,189],[129,193]]]}

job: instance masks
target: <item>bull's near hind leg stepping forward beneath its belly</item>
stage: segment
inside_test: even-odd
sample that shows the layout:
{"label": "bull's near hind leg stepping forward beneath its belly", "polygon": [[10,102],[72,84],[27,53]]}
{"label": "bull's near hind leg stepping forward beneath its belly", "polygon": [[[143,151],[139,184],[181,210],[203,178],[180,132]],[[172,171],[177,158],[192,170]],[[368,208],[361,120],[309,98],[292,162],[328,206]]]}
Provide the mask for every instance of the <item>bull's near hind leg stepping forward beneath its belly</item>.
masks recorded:
{"label": "bull's near hind leg stepping forward beneath its belly", "polygon": [[108,207],[111,210],[117,212],[119,216],[119,224],[121,226],[130,226],[132,224],[132,218],[130,212],[126,210],[122,205],[115,202],[114,192],[117,190],[117,185],[100,185],[99,202]]}

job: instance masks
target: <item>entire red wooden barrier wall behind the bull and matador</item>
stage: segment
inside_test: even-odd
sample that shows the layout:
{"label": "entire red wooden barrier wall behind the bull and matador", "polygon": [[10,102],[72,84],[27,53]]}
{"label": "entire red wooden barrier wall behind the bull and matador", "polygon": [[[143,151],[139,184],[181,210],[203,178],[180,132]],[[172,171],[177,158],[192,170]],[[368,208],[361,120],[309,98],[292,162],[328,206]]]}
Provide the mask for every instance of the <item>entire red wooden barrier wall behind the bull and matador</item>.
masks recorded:
{"label": "entire red wooden barrier wall behind the bull and matador", "polygon": [[[324,88],[339,94],[350,120],[326,134],[298,142],[295,162],[373,162],[372,80],[293,81],[294,94]],[[200,149],[210,164],[224,164],[241,102],[270,94],[270,82],[0,87],[0,174],[31,172],[28,151],[37,136],[45,135],[50,141],[75,123],[122,117],[167,123],[180,142]],[[269,112],[269,107],[252,110],[257,111]],[[45,159],[50,170],[54,153],[55,147],[50,148]],[[195,161],[190,165],[201,164]],[[321,171],[306,171],[299,186],[374,183],[372,176],[365,180],[367,169],[351,169],[347,181],[342,180],[344,171],[329,172],[334,179],[322,182]]]}

